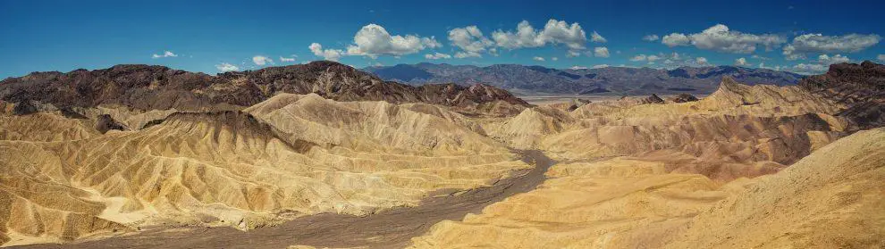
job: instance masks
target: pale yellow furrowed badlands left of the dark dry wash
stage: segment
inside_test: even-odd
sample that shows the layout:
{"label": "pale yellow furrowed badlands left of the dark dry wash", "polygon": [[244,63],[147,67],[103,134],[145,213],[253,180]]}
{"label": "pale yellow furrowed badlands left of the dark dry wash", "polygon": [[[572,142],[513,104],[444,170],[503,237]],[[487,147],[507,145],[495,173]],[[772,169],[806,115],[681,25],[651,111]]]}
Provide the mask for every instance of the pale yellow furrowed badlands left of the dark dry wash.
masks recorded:
{"label": "pale yellow furrowed badlands left of the dark dry wash", "polygon": [[[130,130],[102,135],[57,112],[0,118],[6,245],[155,224],[248,229],[316,212],[361,215],[530,167],[439,107],[279,95],[247,110],[257,118],[113,110],[86,113],[114,112]],[[135,129],[146,115],[165,120]]]}

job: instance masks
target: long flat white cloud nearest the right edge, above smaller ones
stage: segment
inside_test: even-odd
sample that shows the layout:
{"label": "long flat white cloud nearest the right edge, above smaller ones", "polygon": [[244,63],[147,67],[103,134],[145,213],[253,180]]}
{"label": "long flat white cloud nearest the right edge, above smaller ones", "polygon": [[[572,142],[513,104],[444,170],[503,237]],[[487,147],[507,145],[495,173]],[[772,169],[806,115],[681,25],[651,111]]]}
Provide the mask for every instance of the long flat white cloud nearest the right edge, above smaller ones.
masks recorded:
{"label": "long flat white cloud nearest the right edge, above smaller ones", "polygon": [[848,34],[841,37],[805,34],[793,38],[792,43],[784,46],[783,54],[787,60],[797,60],[805,59],[805,54],[809,53],[855,53],[875,46],[879,41],[881,37],[876,34]]}

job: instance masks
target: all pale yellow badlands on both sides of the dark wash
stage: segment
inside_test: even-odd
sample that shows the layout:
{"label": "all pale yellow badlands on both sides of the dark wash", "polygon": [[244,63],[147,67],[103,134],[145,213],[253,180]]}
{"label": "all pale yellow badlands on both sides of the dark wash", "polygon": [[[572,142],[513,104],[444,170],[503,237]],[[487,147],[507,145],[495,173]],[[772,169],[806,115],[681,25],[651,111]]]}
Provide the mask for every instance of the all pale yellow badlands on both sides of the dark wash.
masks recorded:
{"label": "all pale yellow badlands on both sides of the dark wash", "polygon": [[[3,245],[371,215],[532,167],[517,148],[559,161],[541,187],[437,223],[411,247],[885,246],[885,129],[846,137],[844,106],[800,87],[724,79],[697,102],[468,115],[287,94],[224,112],[73,110],[86,119],[2,107]],[[98,132],[102,114],[125,130]]]}

